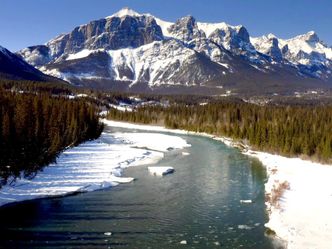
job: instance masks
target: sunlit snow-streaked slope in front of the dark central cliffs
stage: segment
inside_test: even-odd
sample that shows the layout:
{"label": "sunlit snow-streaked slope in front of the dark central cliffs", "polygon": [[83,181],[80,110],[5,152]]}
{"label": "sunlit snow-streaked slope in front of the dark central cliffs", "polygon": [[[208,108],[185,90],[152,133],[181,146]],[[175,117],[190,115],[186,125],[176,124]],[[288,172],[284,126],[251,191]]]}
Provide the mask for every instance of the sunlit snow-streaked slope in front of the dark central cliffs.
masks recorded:
{"label": "sunlit snow-streaked slope in front of the dark central cliffs", "polygon": [[[123,74],[124,68],[132,72],[132,83],[148,82],[150,86],[167,84],[199,84],[200,75],[185,80],[180,79],[185,73],[186,66],[197,60],[193,50],[183,47],[177,41],[154,42],[137,49],[123,49],[109,51],[112,58],[112,68],[117,72],[117,79],[128,79],[128,75]],[[199,69],[198,69],[199,70]],[[204,75],[201,75],[202,78]]]}

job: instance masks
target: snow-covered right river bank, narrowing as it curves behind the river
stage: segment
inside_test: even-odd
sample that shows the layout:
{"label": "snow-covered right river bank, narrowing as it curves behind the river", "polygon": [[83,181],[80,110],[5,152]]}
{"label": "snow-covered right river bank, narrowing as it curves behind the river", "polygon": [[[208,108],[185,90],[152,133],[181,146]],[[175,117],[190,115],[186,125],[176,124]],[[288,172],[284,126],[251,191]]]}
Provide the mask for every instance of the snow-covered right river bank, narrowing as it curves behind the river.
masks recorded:
{"label": "snow-covered right river bank, narrowing as it curves behind the river", "polygon": [[[110,120],[103,122],[114,127],[206,136],[236,147],[232,139],[206,133]],[[332,165],[251,150],[243,154],[257,158],[267,170],[265,193],[270,201],[266,202],[269,222],[265,226],[275,231],[288,249],[332,248]],[[278,190],[281,196],[277,195]],[[275,196],[274,201],[271,196]]]}

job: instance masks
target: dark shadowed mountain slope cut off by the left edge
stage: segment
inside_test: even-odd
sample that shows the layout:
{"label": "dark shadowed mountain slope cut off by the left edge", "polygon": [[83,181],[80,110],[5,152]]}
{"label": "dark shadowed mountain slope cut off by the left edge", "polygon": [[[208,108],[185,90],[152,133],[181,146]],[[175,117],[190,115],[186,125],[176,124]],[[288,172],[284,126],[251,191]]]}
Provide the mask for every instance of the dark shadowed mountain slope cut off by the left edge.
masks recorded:
{"label": "dark shadowed mountain slope cut off by the left edge", "polygon": [[0,79],[57,81],[26,63],[19,56],[0,46]]}

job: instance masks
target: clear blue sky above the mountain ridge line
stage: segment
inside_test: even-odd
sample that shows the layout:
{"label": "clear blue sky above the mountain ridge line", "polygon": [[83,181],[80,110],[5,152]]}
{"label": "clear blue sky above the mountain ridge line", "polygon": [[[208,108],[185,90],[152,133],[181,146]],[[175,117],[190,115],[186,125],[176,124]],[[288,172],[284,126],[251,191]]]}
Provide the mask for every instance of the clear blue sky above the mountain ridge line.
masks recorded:
{"label": "clear blue sky above the mountain ridge line", "polygon": [[332,0],[1,0],[0,45],[17,51],[43,44],[126,6],[167,21],[190,14],[202,22],[242,24],[251,36],[290,38],[315,30],[332,45]]}

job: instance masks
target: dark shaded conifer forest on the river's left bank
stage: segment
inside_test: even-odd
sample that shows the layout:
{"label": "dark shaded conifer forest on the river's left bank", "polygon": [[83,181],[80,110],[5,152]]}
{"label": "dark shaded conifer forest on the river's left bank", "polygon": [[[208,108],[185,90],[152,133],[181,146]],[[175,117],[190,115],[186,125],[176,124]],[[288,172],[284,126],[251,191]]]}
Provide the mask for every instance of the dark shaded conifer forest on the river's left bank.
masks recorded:
{"label": "dark shaded conifer forest on the river's left bank", "polygon": [[99,137],[103,128],[93,103],[59,94],[69,93],[67,87],[40,83],[17,86],[0,85],[2,184],[21,173],[33,176],[63,149]]}

